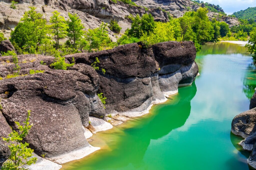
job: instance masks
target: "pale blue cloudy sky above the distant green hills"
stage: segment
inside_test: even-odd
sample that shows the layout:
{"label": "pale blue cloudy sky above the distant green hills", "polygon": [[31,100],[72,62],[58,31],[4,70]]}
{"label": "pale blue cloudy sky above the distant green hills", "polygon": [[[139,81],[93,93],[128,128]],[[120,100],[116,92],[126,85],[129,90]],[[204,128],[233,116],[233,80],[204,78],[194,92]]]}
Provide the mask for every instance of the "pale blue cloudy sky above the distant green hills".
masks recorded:
{"label": "pale blue cloudy sky above the distant green hills", "polygon": [[[200,0],[201,1],[201,0]],[[256,7],[256,0],[202,0],[214,5],[222,7],[226,14],[230,15],[234,12],[247,9],[248,7]]]}

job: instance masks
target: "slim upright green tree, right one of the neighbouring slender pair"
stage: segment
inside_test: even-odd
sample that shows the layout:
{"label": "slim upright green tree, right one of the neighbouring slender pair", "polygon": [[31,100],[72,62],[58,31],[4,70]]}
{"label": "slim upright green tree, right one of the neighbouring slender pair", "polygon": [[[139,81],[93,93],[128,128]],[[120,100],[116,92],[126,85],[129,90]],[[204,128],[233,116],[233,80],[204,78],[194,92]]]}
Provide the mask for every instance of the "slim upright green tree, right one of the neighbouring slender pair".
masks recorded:
{"label": "slim upright green tree, right one of the neighbouring slender pair", "polygon": [[68,13],[69,19],[67,21],[67,38],[69,39],[71,45],[76,48],[76,41],[82,37],[84,34],[84,26],[77,14]]}

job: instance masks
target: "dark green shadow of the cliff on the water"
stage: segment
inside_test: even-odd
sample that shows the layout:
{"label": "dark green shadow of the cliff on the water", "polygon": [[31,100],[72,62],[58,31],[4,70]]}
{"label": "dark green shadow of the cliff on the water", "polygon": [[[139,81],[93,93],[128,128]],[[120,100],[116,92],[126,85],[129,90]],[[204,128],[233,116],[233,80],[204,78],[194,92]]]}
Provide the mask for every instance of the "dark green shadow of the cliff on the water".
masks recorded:
{"label": "dark green shadow of the cliff on the water", "polygon": [[[99,151],[91,159],[72,164],[71,169],[146,168],[143,158],[151,140],[162,138],[185,124],[191,110],[190,101],[196,91],[195,83],[189,87],[180,87],[177,95],[170,97],[164,104],[153,106],[149,115],[136,119],[135,126],[124,129],[118,142],[107,142],[111,151]],[[184,108],[182,112],[180,108]],[[112,135],[116,134],[109,134],[109,138]]]}

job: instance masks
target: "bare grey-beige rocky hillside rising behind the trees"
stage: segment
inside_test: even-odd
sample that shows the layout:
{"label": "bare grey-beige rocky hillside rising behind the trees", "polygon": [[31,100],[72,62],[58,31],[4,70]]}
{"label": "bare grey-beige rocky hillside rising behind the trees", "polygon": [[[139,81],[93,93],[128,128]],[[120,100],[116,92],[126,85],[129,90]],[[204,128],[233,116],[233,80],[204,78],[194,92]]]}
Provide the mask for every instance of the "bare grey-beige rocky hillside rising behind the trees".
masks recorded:
{"label": "bare grey-beige rocky hillside rising behind the trees", "polygon": [[[190,0],[133,0],[137,5],[124,4],[121,1],[113,0],[19,0],[17,8],[10,8],[12,0],[0,0],[0,32],[3,32],[6,37],[10,36],[11,30],[20,21],[25,11],[29,10],[30,6],[37,7],[37,11],[42,13],[49,21],[52,16],[51,12],[57,10],[68,18],[68,12],[77,13],[86,29],[94,29],[99,27],[101,22],[109,22],[111,19],[118,21],[121,26],[121,33],[124,33],[127,28],[131,27],[131,23],[127,16],[142,16],[145,13],[151,13],[156,21],[166,22],[169,15],[173,17],[181,17],[186,11],[197,10],[198,8],[208,7],[216,11],[221,11],[217,6],[211,4],[200,4]],[[209,9],[209,17],[216,17],[220,21],[225,21],[230,26],[237,25],[237,19],[220,16],[217,12],[212,12]],[[116,34],[109,30],[110,37],[116,41]]]}

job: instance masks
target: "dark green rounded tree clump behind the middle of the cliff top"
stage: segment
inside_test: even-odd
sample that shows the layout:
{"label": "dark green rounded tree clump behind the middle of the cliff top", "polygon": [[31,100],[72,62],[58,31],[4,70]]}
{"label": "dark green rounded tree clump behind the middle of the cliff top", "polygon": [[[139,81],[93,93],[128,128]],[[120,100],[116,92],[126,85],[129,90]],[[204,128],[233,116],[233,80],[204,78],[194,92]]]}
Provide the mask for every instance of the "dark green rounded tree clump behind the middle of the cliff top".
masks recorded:
{"label": "dark green rounded tree clump behind the middle of the cliff top", "polygon": [[131,29],[126,30],[126,35],[129,37],[140,38],[144,33],[149,34],[155,29],[154,17],[151,14],[144,14],[142,18],[136,15],[132,19]]}

